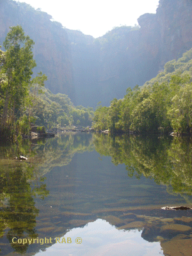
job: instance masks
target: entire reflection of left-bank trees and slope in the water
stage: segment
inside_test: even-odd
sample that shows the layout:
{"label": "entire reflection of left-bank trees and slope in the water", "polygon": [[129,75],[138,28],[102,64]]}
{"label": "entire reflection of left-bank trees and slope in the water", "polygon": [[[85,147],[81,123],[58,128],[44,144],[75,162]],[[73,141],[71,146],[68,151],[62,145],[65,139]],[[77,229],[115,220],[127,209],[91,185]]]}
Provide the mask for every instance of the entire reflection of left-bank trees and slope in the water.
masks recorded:
{"label": "entire reflection of left-bank trees and slope in the water", "polygon": [[[0,237],[5,228],[10,228],[6,237],[16,252],[26,252],[28,244],[12,243],[13,237],[37,237],[34,197],[44,199],[49,194],[41,177],[54,166],[70,163],[76,152],[93,148],[92,134],[63,134],[51,140],[26,140],[0,147]],[[20,155],[27,156],[28,161],[13,160]]]}

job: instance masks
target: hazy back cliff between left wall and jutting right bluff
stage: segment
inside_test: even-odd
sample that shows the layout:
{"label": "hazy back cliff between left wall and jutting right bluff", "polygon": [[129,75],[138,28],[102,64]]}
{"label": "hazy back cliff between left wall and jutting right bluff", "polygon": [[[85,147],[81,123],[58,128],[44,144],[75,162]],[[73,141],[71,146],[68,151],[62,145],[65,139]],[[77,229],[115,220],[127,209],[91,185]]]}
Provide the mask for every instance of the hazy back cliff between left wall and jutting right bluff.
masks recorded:
{"label": "hazy back cliff between left wall and jutting right bluff", "polygon": [[[154,23],[152,22],[154,25]],[[72,42],[72,63],[77,104],[108,106],[124,97],[128,87],[140,86],[159,70],[159,39],[155,27],[121,27],[92,44]],[[147,32],[147,33],[146,33]],[[154,36],[154,37],[153,37]],[[82,101],[83,99],[83,101]]]}

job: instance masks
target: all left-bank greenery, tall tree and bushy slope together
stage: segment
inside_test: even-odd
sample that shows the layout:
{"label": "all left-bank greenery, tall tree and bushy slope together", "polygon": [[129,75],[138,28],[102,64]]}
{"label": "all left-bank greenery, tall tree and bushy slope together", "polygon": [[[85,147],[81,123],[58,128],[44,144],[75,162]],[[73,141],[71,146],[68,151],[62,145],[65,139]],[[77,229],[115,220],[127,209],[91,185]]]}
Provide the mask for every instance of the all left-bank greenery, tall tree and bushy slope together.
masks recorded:
{"label": "all left-bank greenery, tall tree and bushy slope together", "polygon": [[31,79],[34,42],[21,26],[10,28],[0,50],[0,133],[5,140],[28,134],[31,122],[47,128],[91,125],[93,109],[74,107],[67,95],[52,94],[44,88],[47,76]]}

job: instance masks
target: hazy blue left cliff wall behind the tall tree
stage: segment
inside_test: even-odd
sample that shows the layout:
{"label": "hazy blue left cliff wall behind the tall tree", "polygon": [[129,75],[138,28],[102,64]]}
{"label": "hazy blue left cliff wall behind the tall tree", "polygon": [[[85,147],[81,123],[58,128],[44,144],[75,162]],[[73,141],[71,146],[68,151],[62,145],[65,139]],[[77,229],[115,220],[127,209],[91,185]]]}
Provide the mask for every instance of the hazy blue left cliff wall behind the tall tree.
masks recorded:
{"label": "hazy blue left cliff wall behind the tall tree", "polygon": [[45,86],[53,93],[65,93],[74,100],[70,43],[65,29],[51,21],[51,15],[36,11],[25,3],[4,0],[0,3],[0,45],[10,26],[19,24],[35,42],[33,47],[37,67],[48,80]]}

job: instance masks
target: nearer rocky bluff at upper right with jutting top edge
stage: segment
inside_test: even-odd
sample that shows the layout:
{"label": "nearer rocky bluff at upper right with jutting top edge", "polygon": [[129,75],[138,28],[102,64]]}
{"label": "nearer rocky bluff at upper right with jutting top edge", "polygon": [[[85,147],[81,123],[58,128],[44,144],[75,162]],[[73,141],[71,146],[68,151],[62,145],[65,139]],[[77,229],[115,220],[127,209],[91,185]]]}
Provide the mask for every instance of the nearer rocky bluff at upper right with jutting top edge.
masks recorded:
{"label": "nearer rocky bluff at upper right with jutting top edge", "polygon": [[138,23],[140,49],[154,57],[159,54],[159,70],[192,47],[191,0],[160,0],[156,14],[145,13]]}

